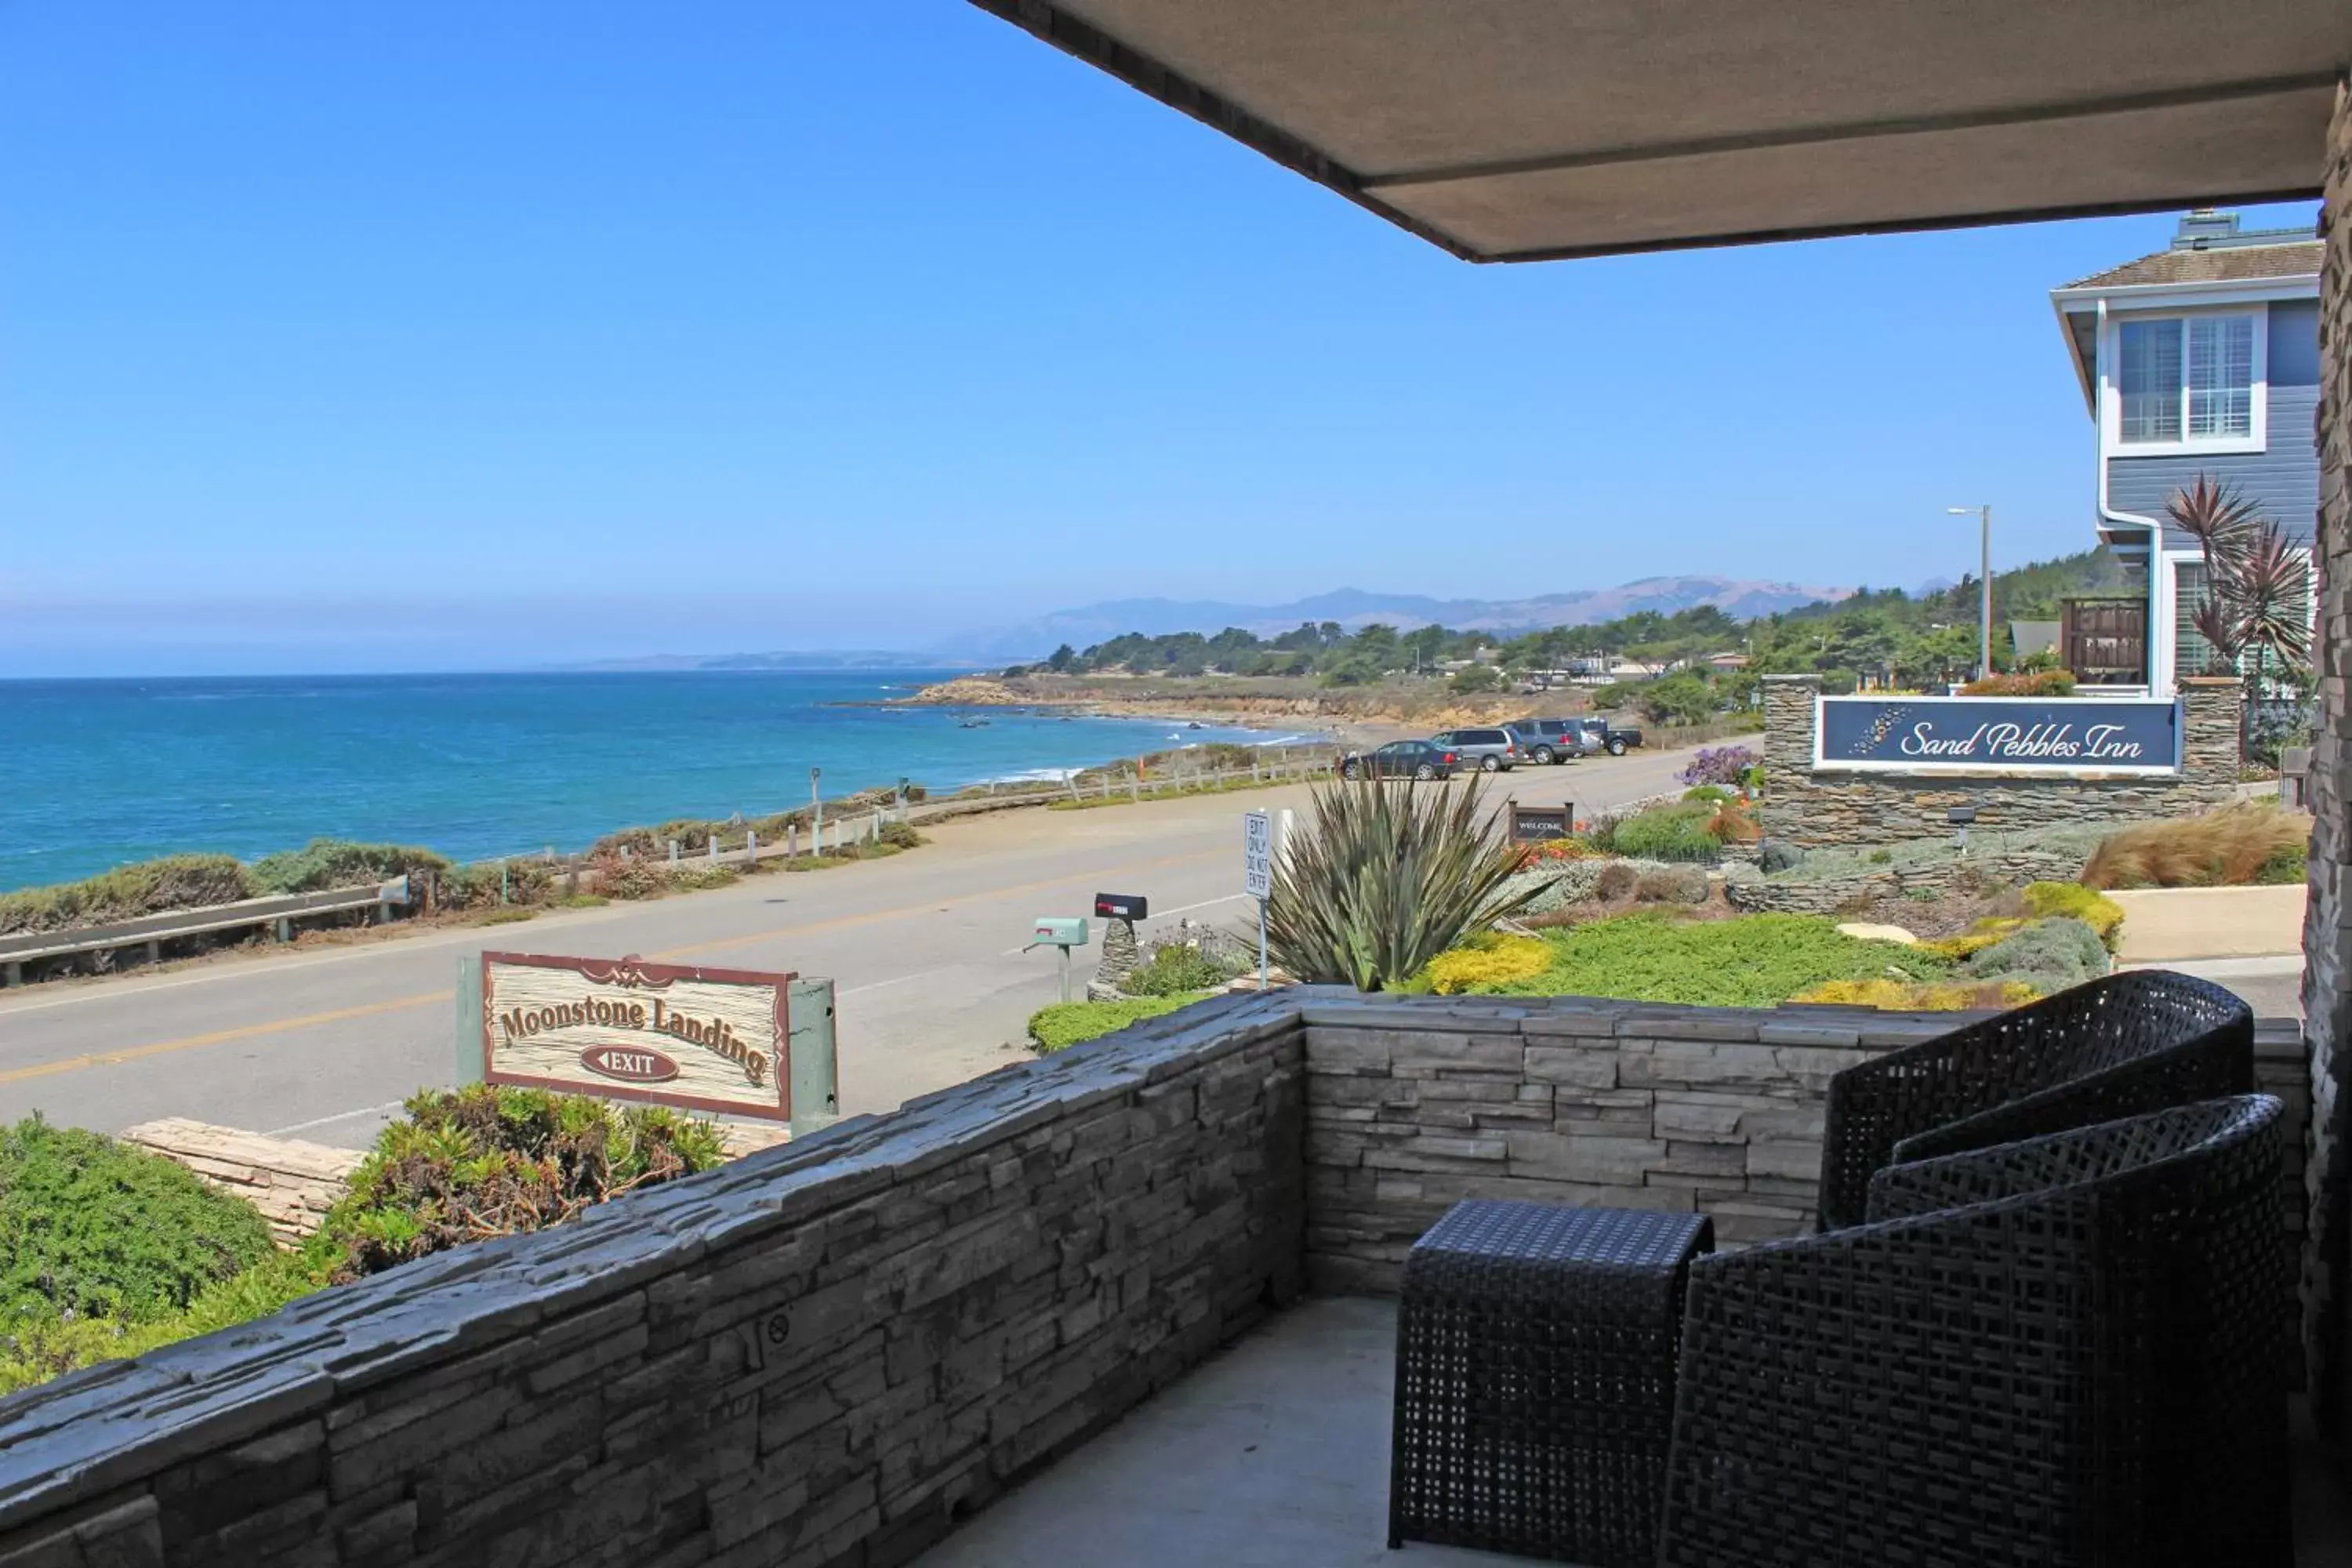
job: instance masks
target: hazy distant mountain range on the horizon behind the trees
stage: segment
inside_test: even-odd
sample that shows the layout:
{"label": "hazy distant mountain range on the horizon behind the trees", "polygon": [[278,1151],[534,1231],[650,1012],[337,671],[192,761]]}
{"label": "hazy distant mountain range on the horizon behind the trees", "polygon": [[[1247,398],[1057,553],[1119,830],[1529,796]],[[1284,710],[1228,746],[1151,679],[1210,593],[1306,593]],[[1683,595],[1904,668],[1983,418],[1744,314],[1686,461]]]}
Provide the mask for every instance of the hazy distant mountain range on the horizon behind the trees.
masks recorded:
{"label": "hazy distant mountain range on the horizon behind the trees", "polygon": [[1672,614],[1712,604],[1726,616],[1748,621],[1771,616],[1799,604],[1820,599],[1844,599],[1851,588],[1806,588],[1802,583],[1764,583],[1724,576],[1651,576],[1618,588],[1588,588],[1581,592],[1550,592],[1534,599],[1430,599],[1411,592],[1367,592],[1341,588],[1291,599],[1289,604],[1228,604],[1223,599],[1105,599],[1080,609],[1058,609],[1021,625],[990,628],[950,637],[931,649],[946,663],[1014,663],[1044,658],[1068,642],[1087,649],[1122,632],[1164,637],[1169,632],[1221,632],[1237,625],[1244,632],[1270,637],[1296,628],[1301,621],[1338,621],[1355,630],[1374,621],[1414,630],[1416,625],[1449,625],[1465,632],[1534,632],[1552,625],[1588,625],[1592,621],[1616,621],[1644,609]]}

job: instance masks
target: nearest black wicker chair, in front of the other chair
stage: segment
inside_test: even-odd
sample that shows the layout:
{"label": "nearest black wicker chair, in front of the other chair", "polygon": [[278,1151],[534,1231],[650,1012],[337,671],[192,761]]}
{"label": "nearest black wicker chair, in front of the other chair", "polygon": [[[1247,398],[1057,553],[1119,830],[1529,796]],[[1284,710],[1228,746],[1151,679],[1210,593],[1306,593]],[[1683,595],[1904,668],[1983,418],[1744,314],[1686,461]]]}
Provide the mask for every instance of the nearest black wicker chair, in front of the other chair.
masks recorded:
{"label": "nearest black wicker chair, in front of the other chair", "polygon": [[2279,1103],[1891,1166],[1870,1220],[1698,1258],[1663,1568],[2267,1568]]}

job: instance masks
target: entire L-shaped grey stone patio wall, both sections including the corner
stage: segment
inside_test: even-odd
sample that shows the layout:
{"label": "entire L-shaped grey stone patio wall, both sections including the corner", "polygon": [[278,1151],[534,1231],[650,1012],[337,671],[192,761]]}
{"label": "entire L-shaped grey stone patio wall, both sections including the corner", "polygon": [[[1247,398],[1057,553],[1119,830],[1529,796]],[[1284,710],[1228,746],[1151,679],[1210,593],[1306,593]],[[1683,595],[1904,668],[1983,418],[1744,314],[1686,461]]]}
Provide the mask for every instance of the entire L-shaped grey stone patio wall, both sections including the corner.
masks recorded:
{"label": "entire L-shaped grey stone patio wall, both sections including the corner", "polygon": [[1952,1023],[1207,1001],[0,1401],[0,1568],[906,1563],[1461,1197],[1804,1229],[1828,1077]]}

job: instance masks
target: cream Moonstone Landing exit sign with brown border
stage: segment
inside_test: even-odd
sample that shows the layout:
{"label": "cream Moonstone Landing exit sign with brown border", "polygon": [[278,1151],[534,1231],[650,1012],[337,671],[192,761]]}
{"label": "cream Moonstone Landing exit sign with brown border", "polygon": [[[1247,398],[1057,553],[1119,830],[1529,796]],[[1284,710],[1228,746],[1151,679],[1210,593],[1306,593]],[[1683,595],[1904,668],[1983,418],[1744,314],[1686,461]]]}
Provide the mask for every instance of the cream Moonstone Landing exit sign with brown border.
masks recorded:
{"label": "cream Moonstone Landing exit sign with brown border", "polygon": [[482,954],[492,1084],[793,1119],[793,976]]}

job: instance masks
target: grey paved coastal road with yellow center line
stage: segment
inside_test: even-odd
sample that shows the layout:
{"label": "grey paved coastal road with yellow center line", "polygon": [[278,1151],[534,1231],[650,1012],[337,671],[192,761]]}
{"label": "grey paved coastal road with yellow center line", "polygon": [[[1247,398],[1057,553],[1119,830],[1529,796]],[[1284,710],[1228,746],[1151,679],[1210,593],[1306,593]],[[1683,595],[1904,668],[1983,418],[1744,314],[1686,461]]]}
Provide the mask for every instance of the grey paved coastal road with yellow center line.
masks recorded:
{"label": "grey paved coastal road with yellow center line", "polygon": [[[1526,804],[1611,806],[1672,788],[1686,752],[1522,769]],[[1096,889],[1244,924],[1240,813],[1256,795],[1098,811],[1009,811],[929,827],[910,856],[821,875],[435,931],[358,947],[228,957],[155,978],[28,987],[0,999],[0,1121],[115,1131],[153,1117],[365,1147],[409,1091],[454,1074],[454,976],[482,947],[790,969],[840,987],[842,1110],[889,1110],[1023,1051],[1056,997],[1054,954],[1018,952],[1037,914]],[[1303,806],[1305,788],[1265,802]],[[1145,929],[1148,936],[1148,929]],[[1082,957],[1091,957],[1082,954]]]}

